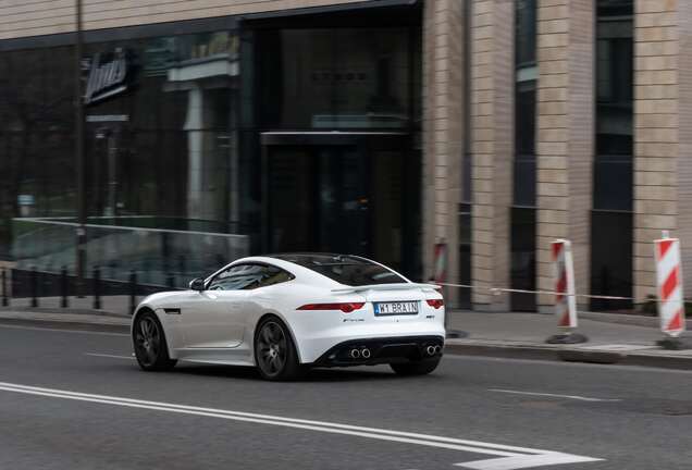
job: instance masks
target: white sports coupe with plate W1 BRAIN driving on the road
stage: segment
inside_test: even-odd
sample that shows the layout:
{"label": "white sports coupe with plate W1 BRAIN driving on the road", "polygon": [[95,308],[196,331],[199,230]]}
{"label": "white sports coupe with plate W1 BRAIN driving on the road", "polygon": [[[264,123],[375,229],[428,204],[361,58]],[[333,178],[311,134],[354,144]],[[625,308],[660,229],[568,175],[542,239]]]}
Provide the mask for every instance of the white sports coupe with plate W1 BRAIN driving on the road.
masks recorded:
{"label": "white sports coupe with plate W1 BRAIN driving on the road", "polygon": [[427,374],[444,346],[444,301],[366,258],[287,253],[243,258],[189,290],[145,298],[132,322],[145,370],[177,360],[256,366],[269,380],[311,367],[388,363]]}

